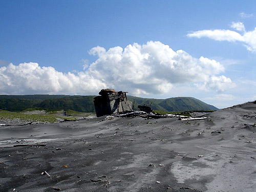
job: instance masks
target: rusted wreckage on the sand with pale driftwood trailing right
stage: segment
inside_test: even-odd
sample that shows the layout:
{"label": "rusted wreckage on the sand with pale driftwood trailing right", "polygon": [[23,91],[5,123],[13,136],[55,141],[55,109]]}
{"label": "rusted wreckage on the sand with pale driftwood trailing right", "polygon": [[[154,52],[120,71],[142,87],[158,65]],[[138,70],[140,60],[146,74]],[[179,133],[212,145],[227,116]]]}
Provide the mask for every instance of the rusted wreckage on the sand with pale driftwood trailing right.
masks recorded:
{"label": "rusted wreckage on the sand with pale driftwood trailing right", "polygon": [[141,116],[144,118],[166,118],[176,117],[179,120],[194,120],[194,119],[205,119],[203,118],[191,118],[181,115],[160,115],[155,114],[151,109],[151,105],[138,105],[140,111],[134,111],[134,103],[127,99],[126,93],[123,91],[116,92],[113,89],[102,89],[99,92],[100,96],[94,97],[94,106],[97,117],[104,115],[115,115],[116,117],[136,117]]}

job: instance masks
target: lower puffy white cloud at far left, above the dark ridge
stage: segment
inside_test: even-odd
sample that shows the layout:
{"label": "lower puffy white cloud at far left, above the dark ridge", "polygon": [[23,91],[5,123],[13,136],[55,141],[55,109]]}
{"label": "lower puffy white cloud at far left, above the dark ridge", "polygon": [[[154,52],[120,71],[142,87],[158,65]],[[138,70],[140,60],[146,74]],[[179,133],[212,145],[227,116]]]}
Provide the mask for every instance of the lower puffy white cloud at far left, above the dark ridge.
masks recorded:
{"label": "lower puffy white cloud at far left, above the dark ridge", "polygon": [[62,73],[34,62],[0,68],[1,94],[90,94],[102,87],[102,81],[84,72]]}

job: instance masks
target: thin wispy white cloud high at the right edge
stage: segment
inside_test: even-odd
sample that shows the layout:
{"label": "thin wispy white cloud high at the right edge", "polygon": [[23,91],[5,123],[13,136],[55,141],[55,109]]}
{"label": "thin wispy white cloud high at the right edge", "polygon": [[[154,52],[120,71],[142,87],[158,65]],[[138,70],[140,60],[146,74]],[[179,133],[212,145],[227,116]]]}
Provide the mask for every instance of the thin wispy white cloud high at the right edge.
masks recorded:
{"label": "thin wispy white cloud high at the right edge", "polygon": [[240,41],[243,42],[248,51],[256,53],[256,28],[253,31],[246,31],[244,24],[241,22],[233,22],[230,27],[238,32],[225,29],[200,30],[188,33],[187,36],[197,38],[208,37],[218,41]]}

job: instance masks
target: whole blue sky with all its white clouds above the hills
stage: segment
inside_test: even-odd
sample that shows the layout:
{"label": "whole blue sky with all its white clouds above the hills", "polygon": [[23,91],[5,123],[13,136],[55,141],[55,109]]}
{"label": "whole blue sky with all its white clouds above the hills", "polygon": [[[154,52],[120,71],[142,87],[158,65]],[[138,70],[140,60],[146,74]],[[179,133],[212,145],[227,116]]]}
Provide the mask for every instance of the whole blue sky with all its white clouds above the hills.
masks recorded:
{"label": "whole blue sky with all its white clouds above the hills", "polygon": [[256,1],[0,1],[0,94],[256,100]]}

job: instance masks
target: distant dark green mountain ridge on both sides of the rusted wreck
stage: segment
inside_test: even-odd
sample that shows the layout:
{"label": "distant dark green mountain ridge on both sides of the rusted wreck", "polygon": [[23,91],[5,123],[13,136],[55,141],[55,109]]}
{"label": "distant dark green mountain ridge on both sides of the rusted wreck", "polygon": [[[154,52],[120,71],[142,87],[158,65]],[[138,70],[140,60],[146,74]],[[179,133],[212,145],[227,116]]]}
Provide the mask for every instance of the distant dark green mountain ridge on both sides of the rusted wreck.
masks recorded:
{"label": "distant dark green mountain ridge on both sides of the rusted wreck", "polygon": [[[79,112],[95,112],[93,98],[90,96],[70,95],[0,95],[0,109],[6,111],[23,111],[28,108],[48,110],[73,110]],[[216,111],[218,108],[193,97],[173,97],[168,99],[151,99],[127,95],[138,105],[150,105],[158,111]]]}

